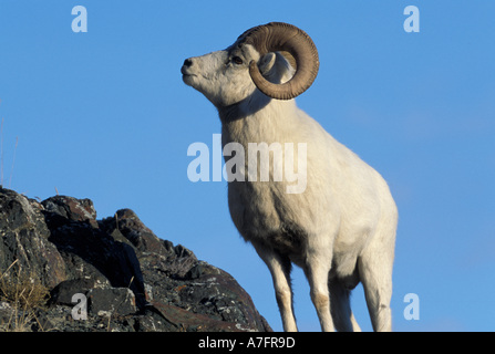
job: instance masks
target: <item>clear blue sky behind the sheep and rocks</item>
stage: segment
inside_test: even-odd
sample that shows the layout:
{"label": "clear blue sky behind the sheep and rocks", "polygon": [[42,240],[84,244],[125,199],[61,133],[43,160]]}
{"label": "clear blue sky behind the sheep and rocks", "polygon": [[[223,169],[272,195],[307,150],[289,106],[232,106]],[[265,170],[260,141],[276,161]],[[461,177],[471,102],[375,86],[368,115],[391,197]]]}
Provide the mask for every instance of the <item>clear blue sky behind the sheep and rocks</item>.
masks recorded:
{"label": "clear blue sky behind the sheep and rocks", "polygon": [[[100,218],[133,209],[231,273],[281,330],[268,270],[230,221],[226,183],[187,178],[188,146],[212,147],[220,123],[179,69],[254,25],[290,22],[321,61],[298,105],[375,167],[399,206],[394,330],[494,331],[495,2],[301,3],[2,0],[3,185],[91,198]],[[79,4],[86,33],[71,28]],[[403,29],[411,4],[419,33]],[[299,327],[318,331],[302,272],[293,278]],[[417,321],[403,316],[408,293],[419,295]],[[361,287],[352,304],[370,330]]]}

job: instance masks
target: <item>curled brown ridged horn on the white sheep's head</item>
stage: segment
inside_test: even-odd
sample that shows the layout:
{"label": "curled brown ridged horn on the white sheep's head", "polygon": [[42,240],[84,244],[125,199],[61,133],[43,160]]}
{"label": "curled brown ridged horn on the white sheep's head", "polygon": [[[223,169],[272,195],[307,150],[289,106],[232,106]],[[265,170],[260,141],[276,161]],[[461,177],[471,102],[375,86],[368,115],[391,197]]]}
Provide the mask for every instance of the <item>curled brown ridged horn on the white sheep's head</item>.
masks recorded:
{"label": "curled brown ridged horn on the white sheep's head", "polygon": [[296,60],[296,73],[283,84],[267,81],[259,72],[256,62],[249,63],[252,82],[267,96],[276,100],[291,100],[308,90],[317,77],[320,66],[317,46],[305,31],[292,24],[270,22],[247,30],[239,39],[241,39],[240,43],[255,46],[260,55],[286,51]]}

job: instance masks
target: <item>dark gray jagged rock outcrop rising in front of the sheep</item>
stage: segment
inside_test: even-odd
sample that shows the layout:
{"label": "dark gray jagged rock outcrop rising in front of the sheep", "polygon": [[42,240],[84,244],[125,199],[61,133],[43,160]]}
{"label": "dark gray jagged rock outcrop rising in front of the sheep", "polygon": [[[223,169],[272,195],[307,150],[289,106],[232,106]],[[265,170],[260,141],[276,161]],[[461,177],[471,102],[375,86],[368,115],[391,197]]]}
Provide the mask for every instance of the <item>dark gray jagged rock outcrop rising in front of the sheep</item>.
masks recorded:
{"label": "dark gray jagged rock outcrop rising in front of the sheep", "polygon": [[[49,291],[44,306],[19,311],[2,295],[21,273]],[[85,320],[74,320],[74,294],[86,299]],[[0,188],[0,331],[13,316],[25,331],[271,331],[230,274],[134,211],[97,220],[90,199],[38,202]]]}

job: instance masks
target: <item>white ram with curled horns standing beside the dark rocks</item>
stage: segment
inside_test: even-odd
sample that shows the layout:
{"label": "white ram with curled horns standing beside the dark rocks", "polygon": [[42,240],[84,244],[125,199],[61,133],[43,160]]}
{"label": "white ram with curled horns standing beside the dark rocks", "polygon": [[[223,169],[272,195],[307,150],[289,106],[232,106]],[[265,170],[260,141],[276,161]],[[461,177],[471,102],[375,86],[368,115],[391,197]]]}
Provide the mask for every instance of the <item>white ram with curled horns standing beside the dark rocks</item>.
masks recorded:
{"label": "white ram with curled horns standing beside the dark rocks", "polygon": [[[231,218],[271,272],[283,330],[297,331],[295,263],[309,281],[323,331],[360,330],[349,300],[360,281],[373,330],[391,331],[396,207],[384,179],[292,100],[312,84],[318,67],[308,34],[272,22],[246,31],[226,50],[186,59],[182,73],[217,107],[223,146],[237,143],[248,152],[249,143],[306,144],[302,192],[287,192],[286,179],[228,183]],[[236,168],[248,170],[248,159]]]}

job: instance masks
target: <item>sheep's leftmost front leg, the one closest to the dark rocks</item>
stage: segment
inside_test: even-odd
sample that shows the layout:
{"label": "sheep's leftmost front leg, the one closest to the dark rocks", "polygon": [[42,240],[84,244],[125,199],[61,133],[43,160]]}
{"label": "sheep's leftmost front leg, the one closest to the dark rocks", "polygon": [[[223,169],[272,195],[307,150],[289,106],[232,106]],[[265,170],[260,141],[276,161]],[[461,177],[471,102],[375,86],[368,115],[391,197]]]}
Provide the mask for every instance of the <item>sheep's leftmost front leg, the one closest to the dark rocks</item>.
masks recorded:
{"label": "sheep's leftmost front leg, the one closest to the dark rocks", "polygon": [[292,290],[290,288],[291,263],[287,257],[274,252],[261,244],[255,244],[259,257],[267,264],[274,280],[275,295],[282,317],[283,331],[297,332],[296,317],[292,308]]}

